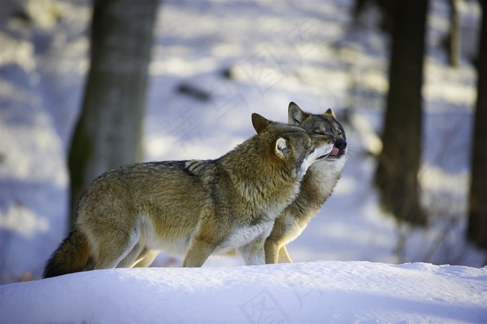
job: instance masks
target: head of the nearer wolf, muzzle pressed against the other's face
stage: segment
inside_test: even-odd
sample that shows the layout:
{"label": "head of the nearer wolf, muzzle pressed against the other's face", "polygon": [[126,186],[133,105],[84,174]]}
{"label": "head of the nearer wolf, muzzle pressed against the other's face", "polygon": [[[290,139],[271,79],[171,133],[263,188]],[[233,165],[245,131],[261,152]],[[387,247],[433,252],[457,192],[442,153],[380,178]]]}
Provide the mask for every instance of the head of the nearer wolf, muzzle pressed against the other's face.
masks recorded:
{"label": "head of the nearer wolf, muzzle pressed against the other's face", "polygon": [[295,178],[303,177],[312,163],[329,155],[333,149],[329,143],[312,140],[301,127],[271,122],[257,113],[252,114],[252,124],[257,134],[273,138],[273,156],[287,165],[286,169]]}

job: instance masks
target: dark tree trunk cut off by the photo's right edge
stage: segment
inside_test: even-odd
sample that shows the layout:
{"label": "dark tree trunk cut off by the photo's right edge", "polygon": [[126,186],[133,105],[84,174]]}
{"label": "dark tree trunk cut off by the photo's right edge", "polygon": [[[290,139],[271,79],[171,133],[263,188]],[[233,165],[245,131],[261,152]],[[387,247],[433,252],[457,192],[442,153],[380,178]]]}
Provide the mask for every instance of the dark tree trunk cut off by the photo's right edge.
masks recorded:
{"label": "dark tree trunk cut off by the photo's right edge", "polygon": [[477,61],[477,105],[472,145],[472,181],[468,217],[468,238],[487,249],[487,17],[486,1],[482,6],[482,22]]}

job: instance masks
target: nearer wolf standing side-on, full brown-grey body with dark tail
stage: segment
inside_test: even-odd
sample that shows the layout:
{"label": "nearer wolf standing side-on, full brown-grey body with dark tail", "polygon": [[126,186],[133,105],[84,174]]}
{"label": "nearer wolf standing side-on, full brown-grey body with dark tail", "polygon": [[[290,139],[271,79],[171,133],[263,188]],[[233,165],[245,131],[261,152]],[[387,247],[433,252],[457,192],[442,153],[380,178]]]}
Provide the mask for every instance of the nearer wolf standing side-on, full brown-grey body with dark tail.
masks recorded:
{"label": "nearer wolf standing side-on, full brown-grey body with dark tail", "polygon": [[44,277],[149,266],[159,251],[185,256],[183,266],[232,250],[246,264],[264,264],[274,220],[333,144],[301,127],[252,120],[257,135],[219,159],[134,163],[95,179]]}

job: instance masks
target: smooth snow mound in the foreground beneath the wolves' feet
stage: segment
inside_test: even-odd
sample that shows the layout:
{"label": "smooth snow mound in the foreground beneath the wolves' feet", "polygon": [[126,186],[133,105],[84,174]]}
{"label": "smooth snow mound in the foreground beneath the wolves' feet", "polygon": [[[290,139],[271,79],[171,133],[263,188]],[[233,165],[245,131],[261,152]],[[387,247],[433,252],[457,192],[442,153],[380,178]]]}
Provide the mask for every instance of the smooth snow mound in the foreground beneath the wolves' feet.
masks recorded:
{"label": "smooth snow mound in the foreground beneath the wolves' feet", "polygon": [[487,323],[487,268],[125,268],[0,286],[1,323]]}

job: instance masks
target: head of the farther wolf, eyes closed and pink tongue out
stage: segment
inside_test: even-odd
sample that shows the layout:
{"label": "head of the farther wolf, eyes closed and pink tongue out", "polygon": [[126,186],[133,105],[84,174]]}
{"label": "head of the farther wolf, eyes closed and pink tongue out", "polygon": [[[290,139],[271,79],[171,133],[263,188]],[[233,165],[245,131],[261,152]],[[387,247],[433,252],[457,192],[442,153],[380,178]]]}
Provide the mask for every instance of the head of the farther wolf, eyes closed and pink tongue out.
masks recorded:
{"label": "head of the farther wolf, eyes closed and pink tongue out", "polygon": [[329,154],[321,156],[320,161],[334,162],[346,156],[345,131],[335,118],[333,110],[328,109],[324,114],[305,113],[297,104],[291,102],[288,108],[289,124],[308,131],[315,143],[333,145]]}

